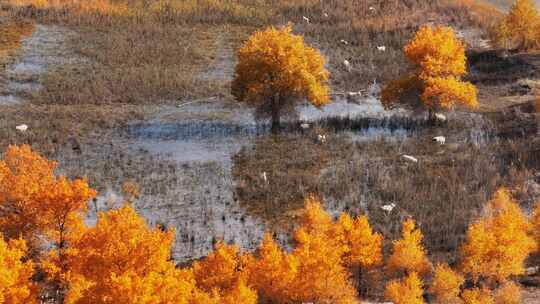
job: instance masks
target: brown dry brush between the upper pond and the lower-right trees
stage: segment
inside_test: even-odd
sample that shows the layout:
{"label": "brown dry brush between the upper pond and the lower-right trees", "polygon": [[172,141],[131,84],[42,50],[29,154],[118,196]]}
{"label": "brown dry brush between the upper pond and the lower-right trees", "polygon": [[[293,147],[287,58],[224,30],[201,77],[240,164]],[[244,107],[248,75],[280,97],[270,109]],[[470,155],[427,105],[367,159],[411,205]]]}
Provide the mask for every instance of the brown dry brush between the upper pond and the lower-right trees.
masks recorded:
{"label": "brown dry brush between the upper pond and the lower-right trees", "polygon": [[[441,147],[416,138],[351,143],[340,136],[320,145],[299,136],[244,149],[235,156],[233,176],[241,204],[277,230],[291,229],[300,198],[315,193],[331,210],[368,213],[388,239],[398,236],[403,219],[416,219],[430,253],[447,260],[497,187],[516,186],[520,202],[531,206],[538,194],[529,186],[539,182],[534,172],[540,168],[534,151],[535,144],[516,138]],[[402,154],[420,162],[408,163]],[[397,205],[393,212],[380,208],[390,203]]]}

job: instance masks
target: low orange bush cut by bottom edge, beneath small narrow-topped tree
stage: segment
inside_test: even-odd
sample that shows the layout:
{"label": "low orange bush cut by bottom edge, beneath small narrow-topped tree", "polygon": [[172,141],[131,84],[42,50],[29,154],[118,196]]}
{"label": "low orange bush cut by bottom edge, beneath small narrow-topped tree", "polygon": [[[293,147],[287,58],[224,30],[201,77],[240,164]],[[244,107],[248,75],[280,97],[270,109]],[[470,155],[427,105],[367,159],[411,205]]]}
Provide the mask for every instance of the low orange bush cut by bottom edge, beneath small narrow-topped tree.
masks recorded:
{"label": "low orange bush cut by bottom edge, beneath small narrow-topped tree", "polygon": [[423,304],[422,280],[411,272],[402,280],[392,280],[386,285],[385,297],[395,304]]}

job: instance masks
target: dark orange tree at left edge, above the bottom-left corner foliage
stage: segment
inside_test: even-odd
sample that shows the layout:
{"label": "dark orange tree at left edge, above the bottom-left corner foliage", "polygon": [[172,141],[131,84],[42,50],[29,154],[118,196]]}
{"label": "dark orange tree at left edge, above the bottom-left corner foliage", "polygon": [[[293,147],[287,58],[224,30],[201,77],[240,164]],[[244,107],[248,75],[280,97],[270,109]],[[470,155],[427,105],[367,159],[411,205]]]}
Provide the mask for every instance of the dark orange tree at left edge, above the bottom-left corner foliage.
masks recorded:
{"label": "dark orange tree at left edge, above the bottom-left corner foliage", "polygon": [[45,235],[63,247],[76,233],[96,192],[86,181],[56,177],[55,168],[29,146],[7,149],[0,161],[0,229],[8,238],[22,234],[34,245]]}

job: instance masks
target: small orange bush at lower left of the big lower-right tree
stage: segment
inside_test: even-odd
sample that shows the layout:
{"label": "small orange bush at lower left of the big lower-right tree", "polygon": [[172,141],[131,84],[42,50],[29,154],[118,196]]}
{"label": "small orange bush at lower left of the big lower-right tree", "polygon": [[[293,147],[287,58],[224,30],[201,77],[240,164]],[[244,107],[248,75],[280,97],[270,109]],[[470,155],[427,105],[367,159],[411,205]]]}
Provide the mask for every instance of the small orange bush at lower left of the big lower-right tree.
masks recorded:
{"label": "small orange bush at lower left of the big lower-right tree", "polygon": [[460,287],[465,279],[446,264],[435,267],[435,276],[430,291],[435,295],[437,303],[460,303]]}

